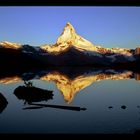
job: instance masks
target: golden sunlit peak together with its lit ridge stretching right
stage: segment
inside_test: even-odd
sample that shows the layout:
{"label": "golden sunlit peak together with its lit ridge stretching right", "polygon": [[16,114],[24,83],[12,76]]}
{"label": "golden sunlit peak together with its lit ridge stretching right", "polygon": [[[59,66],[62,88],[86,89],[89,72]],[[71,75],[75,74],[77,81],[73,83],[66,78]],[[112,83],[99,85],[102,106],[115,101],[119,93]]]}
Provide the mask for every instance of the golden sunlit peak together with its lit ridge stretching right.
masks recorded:
{"label": "golden sunlit peak together with its lit ridge stretching right", "polygon": [[68,22],[64,27],[64,30],[60,37],[58,37],[56,44],[54,45],[43,45],[41,48],[47,52],[55,53],[62,52],[68,47],[75,47],[80,51],[94,51],[98,53],[121,53],[130,56],[130,49],[125,48],[103,48],[101,46],[96,46],[90,41],[78,35],[74,27]]}

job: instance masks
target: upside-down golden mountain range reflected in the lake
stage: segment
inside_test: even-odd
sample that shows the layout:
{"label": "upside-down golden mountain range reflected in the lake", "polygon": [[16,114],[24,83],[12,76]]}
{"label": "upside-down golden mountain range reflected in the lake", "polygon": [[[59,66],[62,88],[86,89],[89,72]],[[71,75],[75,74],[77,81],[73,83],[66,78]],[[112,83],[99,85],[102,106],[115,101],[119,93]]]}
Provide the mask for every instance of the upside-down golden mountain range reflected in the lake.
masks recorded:
{"label": "upside-down golden mountain range reflected in the lake", "polygon": [[[140,80],[140,74],[128,70],[94,69],[94,68],[61,68],[40,71],[29,71],[11,77],[0,78],[0,84],[11,84],[19,81],[39,79],[54,82],[67,103],[72,102],[74,96],[95,82],[102,80]],[[21,87],[20,87],[21,88]]]}

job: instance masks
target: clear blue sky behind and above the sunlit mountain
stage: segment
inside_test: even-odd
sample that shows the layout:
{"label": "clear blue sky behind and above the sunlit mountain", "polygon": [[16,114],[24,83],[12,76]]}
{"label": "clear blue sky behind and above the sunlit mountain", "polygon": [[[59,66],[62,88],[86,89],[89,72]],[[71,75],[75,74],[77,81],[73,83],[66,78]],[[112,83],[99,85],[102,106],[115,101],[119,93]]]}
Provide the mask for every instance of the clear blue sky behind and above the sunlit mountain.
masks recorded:
{"label": "clear blue sky behind and above the sunlit mountain", "polygon": [[0,41],[34,46],[53,44],[70,22],[95,45],[140,45],[140,7],[15,6],[0,7]]}

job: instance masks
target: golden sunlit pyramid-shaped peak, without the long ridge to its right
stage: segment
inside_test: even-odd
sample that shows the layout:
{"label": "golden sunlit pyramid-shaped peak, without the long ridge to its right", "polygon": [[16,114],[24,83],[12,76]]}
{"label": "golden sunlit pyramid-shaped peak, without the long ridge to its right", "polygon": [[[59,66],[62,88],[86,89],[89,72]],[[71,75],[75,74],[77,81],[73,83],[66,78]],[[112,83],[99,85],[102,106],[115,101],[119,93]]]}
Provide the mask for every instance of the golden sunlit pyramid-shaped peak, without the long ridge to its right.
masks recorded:
{"label": "golden sunlit pyramid-shaped peak, without the long ridge to its right", "polygon": [[67,22],[63,32],[58,37],[57,42],[54,45],[51,47],[44,45],[41,48],[51,53],[60,53],[64,50],[67,50],[71,46],[81,51],[97,51],[96,46],[76,33],[70,22]]}

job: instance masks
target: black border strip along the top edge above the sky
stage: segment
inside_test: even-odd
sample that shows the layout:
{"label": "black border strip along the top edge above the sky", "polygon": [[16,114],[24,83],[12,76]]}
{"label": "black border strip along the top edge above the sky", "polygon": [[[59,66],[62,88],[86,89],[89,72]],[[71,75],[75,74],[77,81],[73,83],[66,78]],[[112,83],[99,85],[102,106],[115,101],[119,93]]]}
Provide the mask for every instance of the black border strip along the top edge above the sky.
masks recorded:
{"label": "black border strip along the top edge above the sky", "polygon": [[0,0],[0,6],[140,6],[138,0]]}

